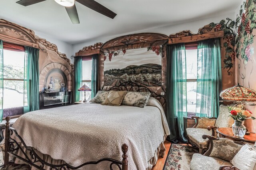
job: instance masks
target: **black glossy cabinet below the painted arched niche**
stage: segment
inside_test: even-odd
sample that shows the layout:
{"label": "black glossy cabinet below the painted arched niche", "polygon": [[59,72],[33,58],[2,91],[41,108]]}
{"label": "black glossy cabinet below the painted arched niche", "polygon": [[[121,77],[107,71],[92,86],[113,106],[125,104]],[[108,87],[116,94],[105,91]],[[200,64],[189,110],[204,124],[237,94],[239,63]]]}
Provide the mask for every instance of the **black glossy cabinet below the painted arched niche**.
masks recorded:
{"label": "black glossy cabinet below the painted arched niche", "polygon": [[48,109],[53,107],[71,105],[72,92],[49,92],[40,93],[39,108]]}

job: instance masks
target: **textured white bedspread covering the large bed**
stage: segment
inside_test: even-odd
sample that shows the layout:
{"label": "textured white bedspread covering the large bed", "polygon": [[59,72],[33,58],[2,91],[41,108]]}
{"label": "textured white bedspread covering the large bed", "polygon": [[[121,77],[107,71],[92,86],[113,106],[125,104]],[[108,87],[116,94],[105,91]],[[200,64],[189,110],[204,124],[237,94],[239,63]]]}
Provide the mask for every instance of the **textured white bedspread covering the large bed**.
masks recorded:
{"label": "textured white bedspread covering the large bed", "polygon": [[[160,103],[150,98],[148,105],[44,109],[22,115],[13,127],[26,145],[73,166],[105,157],[122,160],[121,146],[126,143],[129,169],[145,170],[164,135],[170,135]],[[84,169],[104,169],[100,164]]]}

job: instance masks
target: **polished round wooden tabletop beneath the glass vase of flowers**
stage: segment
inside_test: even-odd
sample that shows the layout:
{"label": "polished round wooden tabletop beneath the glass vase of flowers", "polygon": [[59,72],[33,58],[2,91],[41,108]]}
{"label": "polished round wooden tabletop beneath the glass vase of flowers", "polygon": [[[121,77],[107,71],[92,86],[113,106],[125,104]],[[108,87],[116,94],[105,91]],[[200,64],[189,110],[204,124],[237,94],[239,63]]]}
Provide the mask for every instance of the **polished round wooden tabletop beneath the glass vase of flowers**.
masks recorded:
{"label": "polished round wooden tabletop beneath the glass vase of flowers", "polygon": [[254,144],[256,141],[256,133],[244,135],[244,137],[237,137],[234,135],[231,127],[219,127],[217,129],[219,137],[231,139],[233,141],[245,141]]}

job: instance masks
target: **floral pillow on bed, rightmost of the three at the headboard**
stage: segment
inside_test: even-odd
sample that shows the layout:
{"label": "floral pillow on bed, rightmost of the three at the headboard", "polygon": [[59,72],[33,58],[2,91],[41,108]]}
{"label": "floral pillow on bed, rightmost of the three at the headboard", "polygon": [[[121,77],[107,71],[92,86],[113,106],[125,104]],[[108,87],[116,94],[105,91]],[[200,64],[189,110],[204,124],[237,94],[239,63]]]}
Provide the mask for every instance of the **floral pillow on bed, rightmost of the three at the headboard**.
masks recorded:
{"label": "floral pillow on bed, rightmost of the three at the headboard", "polygon": [[150,92],[127,92],[122,102],[123,105],[144,107],[150,98]]}

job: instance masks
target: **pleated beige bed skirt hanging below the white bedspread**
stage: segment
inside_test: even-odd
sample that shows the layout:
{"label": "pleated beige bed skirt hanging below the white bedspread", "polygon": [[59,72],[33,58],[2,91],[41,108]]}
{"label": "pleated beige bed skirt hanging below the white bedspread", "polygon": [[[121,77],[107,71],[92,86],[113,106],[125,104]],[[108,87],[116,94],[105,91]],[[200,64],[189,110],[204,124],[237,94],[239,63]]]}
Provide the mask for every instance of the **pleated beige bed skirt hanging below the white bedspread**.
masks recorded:
{"label": "pleated beige bed skirt hanging below the white bedspread", "polygon": [[[164,137],[164,139],[165,139],[165,137]],[[4,145],[1,145],[1,147],[2,147],[3,157],[4,157],[4,150],[5,150]],[[22,149],[25,150],[27,155],[29,155],[28,150],[26,150],[24,147],[22,147]],[[152,169],[152,167],[156,164],[156,162],[158,160],[158,156],[164,157],[165,150],[166,149],[164,147],[164,141],[162,141],[160,143],[160,145],[158,146],[158,148],[155,150],[154,156],[148,161],[148,168],[146,168],[146,170]],[[65,164],[66,163],[64,160],[56,160],[56,159],[53,159],[50,155],[42,154],[41,152],[37,151],[36,149],[35,149],[35,151],[38,154],[38,156],[40,156],[40,158],[42,158],[44,161],[46,161],[50,164]],[[20,151],[20,150],[18,150],[17,155],[22,158],[25,158],[22,151]],[[18,158],[15,159],[14,156],[12,156],[11,154],[10,154],[10,160],[14,160],[14,163],[16,163],[16,164],[27,164],[26,162],[23,162],[22,160],[20,160]],[[38,162],[38,165],[41,165],[40,162]],[[86,166],[85,166],[85,168],[86,168]],[[44,165],[44,169],[50,170],[50,167]],[[37,170],[37,168],[32,166],[31,170]]]}

